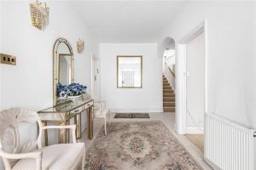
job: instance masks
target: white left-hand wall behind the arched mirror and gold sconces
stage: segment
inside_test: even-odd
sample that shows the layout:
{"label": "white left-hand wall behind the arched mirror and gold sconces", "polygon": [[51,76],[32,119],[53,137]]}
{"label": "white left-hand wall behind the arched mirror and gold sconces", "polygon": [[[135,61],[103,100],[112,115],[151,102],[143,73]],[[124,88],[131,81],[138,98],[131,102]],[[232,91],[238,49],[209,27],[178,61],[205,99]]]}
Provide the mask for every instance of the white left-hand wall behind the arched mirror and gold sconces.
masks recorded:
{"label": "white left-hand wall behind the arched mirror and gold sconces", "polygon": [[[86,85],[90,93],[90,54],[97,54],[95,38],[69,3],[47,4],[49,26],[39,31],[31,26],[29,2],[1,1],[1,53],[15,55],[17,65],[0,65],[0,110],[22,107],[39,111],[52,105],[52,50],[59,37],[67,38],[73,47],[75,82]],[[76,52],[79,38],[85,40],[83,54]],[[27,139],[34,138],[34,130],[26,131]]]}

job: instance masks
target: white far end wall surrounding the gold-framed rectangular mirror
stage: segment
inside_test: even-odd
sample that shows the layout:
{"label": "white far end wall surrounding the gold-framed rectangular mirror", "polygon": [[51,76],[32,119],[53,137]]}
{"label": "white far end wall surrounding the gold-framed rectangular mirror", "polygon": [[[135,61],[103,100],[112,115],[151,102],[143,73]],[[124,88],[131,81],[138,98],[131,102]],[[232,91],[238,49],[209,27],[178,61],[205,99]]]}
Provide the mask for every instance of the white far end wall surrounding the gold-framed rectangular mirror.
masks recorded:
{"label": "white far end wall surrounding the gold-framed rectangular mirror", "polygon": [[[101,93],[112,111],[162,111],[162,60],[156,43],[102,43]],[[117,55],[143,55],[143,88],[117,88]]]}

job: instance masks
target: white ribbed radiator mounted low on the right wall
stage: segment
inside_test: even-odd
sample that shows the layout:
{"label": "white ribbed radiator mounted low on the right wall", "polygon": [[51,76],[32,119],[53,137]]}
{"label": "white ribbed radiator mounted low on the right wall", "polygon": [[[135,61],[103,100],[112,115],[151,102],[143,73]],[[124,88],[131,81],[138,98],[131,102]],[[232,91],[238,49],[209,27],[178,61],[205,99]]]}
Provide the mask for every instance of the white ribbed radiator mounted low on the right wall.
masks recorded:
{"label": "white ribbed radiator mounted low on the right wall", "polygon": [[207,114],[205,160],[216,169],[255,170],[254,132],[220,116]]}

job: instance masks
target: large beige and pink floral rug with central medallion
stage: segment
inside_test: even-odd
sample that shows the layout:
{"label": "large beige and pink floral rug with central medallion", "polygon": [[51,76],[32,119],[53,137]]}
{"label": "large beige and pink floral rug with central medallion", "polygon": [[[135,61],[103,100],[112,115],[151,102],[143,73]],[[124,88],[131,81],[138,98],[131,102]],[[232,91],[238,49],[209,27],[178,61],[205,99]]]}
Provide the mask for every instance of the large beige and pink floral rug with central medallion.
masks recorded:
{"label": "large beige and pink floral rug with central medallion", "polygon": [[160,121],[111,122],[86,151],[86,170],[202,169]]}

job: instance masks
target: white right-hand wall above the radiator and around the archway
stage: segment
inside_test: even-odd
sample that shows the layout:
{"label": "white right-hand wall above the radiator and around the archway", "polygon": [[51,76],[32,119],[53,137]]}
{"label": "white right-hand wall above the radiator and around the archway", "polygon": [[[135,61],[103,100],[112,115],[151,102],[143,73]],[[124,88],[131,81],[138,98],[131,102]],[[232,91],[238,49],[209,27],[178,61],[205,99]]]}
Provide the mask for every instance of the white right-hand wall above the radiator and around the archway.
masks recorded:
{"label": "white right-hand wall above the radiator and around the archway", "polygon": [[[207,20],[208,112],[256,128],[256,3],[189,3],[163,32],[175,42]],[[160,49],[161,47],[159,47]]]}

